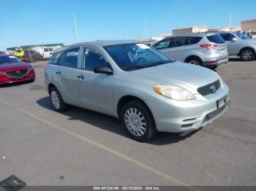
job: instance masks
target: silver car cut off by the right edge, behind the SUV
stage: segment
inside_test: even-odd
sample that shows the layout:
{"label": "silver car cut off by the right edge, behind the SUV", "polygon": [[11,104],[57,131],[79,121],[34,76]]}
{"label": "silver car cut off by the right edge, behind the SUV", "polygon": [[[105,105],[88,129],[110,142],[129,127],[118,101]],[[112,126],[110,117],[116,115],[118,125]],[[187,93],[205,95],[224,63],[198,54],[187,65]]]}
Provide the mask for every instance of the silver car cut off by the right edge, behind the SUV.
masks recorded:
{"label": "silver car cut off by the right edge, behind the SUV", "polygon": [[248,36],[240,32],[221,31],[219,34],[227,42],[227,52],[229,55],[237,55],[242,61],[255,60],[255,39],[249,39]]}

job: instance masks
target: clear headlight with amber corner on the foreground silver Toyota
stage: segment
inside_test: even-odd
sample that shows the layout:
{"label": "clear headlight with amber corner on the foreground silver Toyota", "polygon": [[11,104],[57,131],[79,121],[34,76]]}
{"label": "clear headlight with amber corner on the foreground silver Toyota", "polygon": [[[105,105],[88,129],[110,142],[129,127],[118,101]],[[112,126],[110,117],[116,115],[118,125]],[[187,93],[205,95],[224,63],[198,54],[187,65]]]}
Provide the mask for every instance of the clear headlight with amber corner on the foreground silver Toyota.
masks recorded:
{"label": "clear headlight with amber corner on the foreground silver Toyota", "polygon": [[155,85],[154,91],[160,95],[177,101],[185,101],[195,99],[195,96],[182,87],[171,85]]}

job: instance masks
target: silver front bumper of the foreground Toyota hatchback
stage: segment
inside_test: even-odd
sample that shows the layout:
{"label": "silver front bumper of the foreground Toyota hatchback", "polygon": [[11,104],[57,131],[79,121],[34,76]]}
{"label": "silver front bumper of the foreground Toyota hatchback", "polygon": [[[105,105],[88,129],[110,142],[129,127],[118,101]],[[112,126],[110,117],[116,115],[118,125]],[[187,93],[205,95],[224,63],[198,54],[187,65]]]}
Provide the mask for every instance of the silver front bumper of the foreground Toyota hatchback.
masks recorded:
{"label": "silver front bumper of the foreground Toyota hatchback", "polygon": [[[216,93],[203,97],[196,95],[195,100],[173,101],[168,98],[159,102],[150,102],[150,109],[157,125],[157,130],[180,133],[197,130],[217,120],[230,104],[227,85],[221,85]],[[225,106],[217,108],[217,101],[226,97]]]}

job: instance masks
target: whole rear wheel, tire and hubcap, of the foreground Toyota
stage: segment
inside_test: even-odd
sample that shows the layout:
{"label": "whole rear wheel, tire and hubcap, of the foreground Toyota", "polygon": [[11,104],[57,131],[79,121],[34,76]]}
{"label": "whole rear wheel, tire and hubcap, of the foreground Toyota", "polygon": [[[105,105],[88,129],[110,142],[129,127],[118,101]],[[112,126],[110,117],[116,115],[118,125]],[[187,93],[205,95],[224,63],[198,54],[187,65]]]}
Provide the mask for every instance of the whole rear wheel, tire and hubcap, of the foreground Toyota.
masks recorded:
{"label": "whole rear wheel, tire and hubcap, of the foreground Toyota", "polygon": [[56,87],[50,88],[50,103],[56,112],[65,112],[67,111],[67,104],[64,103],[59,90]]}

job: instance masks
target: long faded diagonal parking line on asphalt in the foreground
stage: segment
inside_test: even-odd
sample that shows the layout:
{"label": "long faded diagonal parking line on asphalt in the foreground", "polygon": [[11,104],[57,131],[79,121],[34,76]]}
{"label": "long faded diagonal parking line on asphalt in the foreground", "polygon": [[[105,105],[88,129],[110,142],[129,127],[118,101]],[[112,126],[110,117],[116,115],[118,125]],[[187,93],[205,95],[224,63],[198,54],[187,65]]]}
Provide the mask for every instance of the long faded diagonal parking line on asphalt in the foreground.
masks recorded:
{"label": "long faded diagonal parking line on asphalt in the foreground", "polygon": [[[65,133],[68,133],[68,134],[71,135],[71,136],[74,136],[74,137],[77,138],[77,139],[86,141],[87,143],[89,143],[89,144],[91,144],[91,145],[94,145],[95,147],[98,147],[98,148],[100,148],[100,149],[102,149],[102,150],[105,150],[106,152],[110,152],[111,154],[116,155],[116,157],[120,157],[120,158],[122,158],[122,159],[124,159],[124,160],[127,160],[129,163],[133,163],[133,164],[135,164],[135,165],[138,165],[138,166],[140,166],[140,168],[144,168],[144,169],[146,169],[146,170],[148,170],[148,171],[151,171],[151,172],[154,173],[154,174],[158,174],[159,176],[164,177],[165,179],[169,180],[170,182],[175,182],[175,183],[177,183],[178,185],[181,185],[181,186],[189,186],[189,184],[187,184],[187,183],[185,183],[185,182],[182,182],[181,180],[178,180],[178,179],[176,179],[176,178],[173,177],[173,176],[170,176],[170,175],[168,175],[168,174],[165,174],[165,173],[162,172],[162,171],[159,171],[159,170],[157,170],[157,169],[155,169],[155,168],[152,168],[151,166],[148,166],[148,165],[146,165],[146,164],[144,164],[144,163],[141,163],[140,161],[135,160],[135,159],[133,159],[133,158],[127,156],[127,155],[121,154],[120,152],[117,152],[117,151],[115,151],[115,150],[113,150],[113,149],[110,149],[109,147],[105,147],[104,145],[99,144],[99,143],[97,143],[96,141],[93,141],[93,140],[91,140],[91,139],[88,139],[88,138],[86,138],[85,136],[81,136],[81,135],[79,135],[78,133],[75,133],[75,132],[73,132],[73,131],[71,131],[71,130],[67,130],[67,129],[65,129],[65,128],[61,128],[59,125],[56,125],[56,124],[54,124],[53,122],[49,122],[48,120],[44,120],[44,119],[42,119],[41,117],[38,117],[37,115],[32,114],[31,112],[27,112],[26,110],[21,109],[21,108],[19,108],[19,107],[17,107],[17,106],[13,106],[12,104],[10,104],[10,103],[7,102],[7,101],[4,101],[4,100],[2,100],[2,99],[0,99],[0,101],[1,101],[1,103],[6,104],[7,106],[10,106],[10,107],[12,107],[12,108],[14,108],[14,109],[17,109],[18,111],[23,112],[24,114],[26,114],[26,115],[28,115],[28,116],[30,116],[30,117],[33,117],[34,119],[39,120],[40,122],[43,122],[43,123],[49,125],[49,126],[52,127],[52,128],[59,129],[59,130],[65,132]],[[197,188],[195,188],[195,187],[192,187],[192,189],[193,189],[193,190],[197,190]]]}

